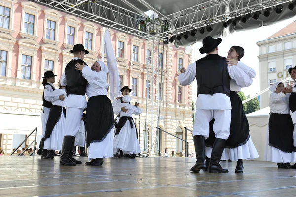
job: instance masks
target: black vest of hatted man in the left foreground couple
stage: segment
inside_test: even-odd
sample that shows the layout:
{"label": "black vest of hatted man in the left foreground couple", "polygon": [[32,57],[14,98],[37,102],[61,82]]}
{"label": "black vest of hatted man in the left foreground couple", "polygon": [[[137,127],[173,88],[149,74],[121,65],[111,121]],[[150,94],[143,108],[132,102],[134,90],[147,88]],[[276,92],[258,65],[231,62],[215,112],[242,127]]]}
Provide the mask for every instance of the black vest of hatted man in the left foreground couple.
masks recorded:
{"label": "black vest of hatted man in the left foreground couple", "polygon": [[75,64],[77,62],[81,65],[83,63],[87,65],[81,59],[71,60],[67,64],[65,68],[65,75],[67,79],[67,87],[66,87],[67,96],[69,94],[85,95],[87,81],[84,77],[82,77],[82,72],[76,69]]}

